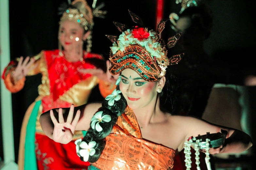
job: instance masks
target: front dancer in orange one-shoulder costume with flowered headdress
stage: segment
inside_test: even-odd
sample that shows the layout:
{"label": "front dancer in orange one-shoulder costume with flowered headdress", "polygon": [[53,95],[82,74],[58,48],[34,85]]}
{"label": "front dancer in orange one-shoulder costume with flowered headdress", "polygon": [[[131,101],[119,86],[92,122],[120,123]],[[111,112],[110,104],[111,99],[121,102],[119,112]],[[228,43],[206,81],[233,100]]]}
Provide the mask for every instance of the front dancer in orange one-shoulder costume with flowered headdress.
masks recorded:
{"label": "front dancer in orange one-shoulder costume with flowered headdress", "polygon": [[[102,103],[45,112],[40,117],[44,133],[56,142],[69,143],[75,130],[86,130],[85,137],[76,141],[77,155],[92,163],[90,168],[101,170],[170,170],[175,154],[189,137],[221,129],[226,130],[227,138],[221,147],[211,148],[211,154],[250,148],[250,137],[241,131],[161,109],[162,92],[169,88],[168,65],[177,64],[183,54],[167,58],[165,44],[159,39],[167,20],[160,21],[154,32],[129,12],[133,21],[142,26],[128,29],[115,22],[122,34],[118,39],[108,35],[113,42],[109,71],[113,75],[121,73],[117,89]],[[171,37],[167,47],[176,42],[177,36]]]}

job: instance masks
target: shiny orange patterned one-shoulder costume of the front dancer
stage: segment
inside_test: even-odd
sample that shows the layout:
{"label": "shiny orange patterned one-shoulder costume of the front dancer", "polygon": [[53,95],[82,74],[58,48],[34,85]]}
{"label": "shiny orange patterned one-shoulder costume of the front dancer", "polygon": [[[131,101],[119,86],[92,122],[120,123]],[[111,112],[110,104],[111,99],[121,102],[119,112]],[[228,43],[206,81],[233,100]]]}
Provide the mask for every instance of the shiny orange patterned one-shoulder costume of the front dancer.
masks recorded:
{"label": "shiny orange patterned one-shoulder costume of the front dancer", "polygon": [[[106,146],[93,166],[100,170],[170,170],[175,150],[142,138],[134,112],[127,106],[118,117],[114,133],[106,137]],[[93,169],[93,167],[92,167]]]}

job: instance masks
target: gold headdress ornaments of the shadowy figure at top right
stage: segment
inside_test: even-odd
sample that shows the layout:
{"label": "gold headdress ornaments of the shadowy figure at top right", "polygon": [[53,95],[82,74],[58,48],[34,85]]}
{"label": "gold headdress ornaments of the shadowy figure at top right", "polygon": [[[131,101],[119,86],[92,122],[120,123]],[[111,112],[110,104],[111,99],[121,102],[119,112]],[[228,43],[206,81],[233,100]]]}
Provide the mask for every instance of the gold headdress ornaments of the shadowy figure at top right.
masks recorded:
{"label": "gold headdress ornaments of the shadowy figure at top right", "polygon": [[[198,6],[198,3],[200,3],[202,0],[176,0],[176,4],[181,3],[181,9],[179,13],[181,14],[186,8],[188,7],[196,7]],[[172,23],[172,29],[176,31],[176,21],[179,20],[179,16],[176,13],[171,13],[169,15],[170,21]]]}

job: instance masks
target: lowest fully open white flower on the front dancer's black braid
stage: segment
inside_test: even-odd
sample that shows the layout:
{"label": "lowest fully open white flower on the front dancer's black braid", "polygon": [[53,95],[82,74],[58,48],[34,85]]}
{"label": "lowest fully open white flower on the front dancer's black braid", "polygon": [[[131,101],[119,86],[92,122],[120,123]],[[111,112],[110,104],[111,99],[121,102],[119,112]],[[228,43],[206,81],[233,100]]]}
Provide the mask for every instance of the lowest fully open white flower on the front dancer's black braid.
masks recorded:
{"label": "lowest fully open white flower on the front dancer's black braid", "polygon": [[96,142],[95,141],[92,141],[92,142],[89,142],[89,144],[87,144],[86,142],[81,142],[80,143],[80,151],[79,151],[79,154],[81,155],[81,157],[83,157],[84,161],[87,162],[88,159],[89,159],[89,155],[90,156],[93,156],[95,154],[95,147],[96,145]]}

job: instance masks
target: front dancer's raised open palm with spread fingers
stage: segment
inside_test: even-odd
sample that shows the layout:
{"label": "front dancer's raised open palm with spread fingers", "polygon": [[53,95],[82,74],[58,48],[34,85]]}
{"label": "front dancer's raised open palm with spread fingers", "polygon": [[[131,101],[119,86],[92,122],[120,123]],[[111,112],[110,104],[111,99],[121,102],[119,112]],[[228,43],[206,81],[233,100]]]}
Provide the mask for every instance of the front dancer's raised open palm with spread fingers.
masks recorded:
{"label": "front dancer's raised open palm with spread fingers", "polygon": [[74,114],[74,105],[71,105],[67,121],[64,121],[63,114],[62,114],[62,108],[59,109],[59,122],[55,118],[53,114],[53,110],[50,110],[50,116],[52,119],[52,122],[54,124],[54,130],[53,130],[53,140],[55,142],[59,142],[62,144],[67,144],[69,143],[74,136],[74,132],[77,126],[77,122],[80,117],[80,110],[77,110],[77,114],[73,119],[73,114]]}

